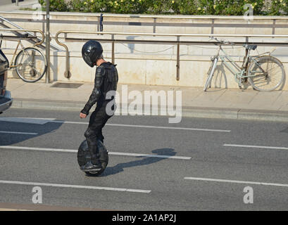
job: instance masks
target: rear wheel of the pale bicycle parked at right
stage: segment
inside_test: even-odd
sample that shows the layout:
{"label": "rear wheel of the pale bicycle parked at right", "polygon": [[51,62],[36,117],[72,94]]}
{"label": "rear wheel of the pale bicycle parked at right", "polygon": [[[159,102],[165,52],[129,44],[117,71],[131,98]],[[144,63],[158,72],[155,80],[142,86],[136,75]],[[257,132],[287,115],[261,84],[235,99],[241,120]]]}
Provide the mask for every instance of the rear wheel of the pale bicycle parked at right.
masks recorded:
{"label": "rear wheel of the pale bicycle parked at right", "polygon": [[258,91],[273,91],[282,84],[285,71],[282,63],[272,56],[256,58],[248,68],[248,80]]}

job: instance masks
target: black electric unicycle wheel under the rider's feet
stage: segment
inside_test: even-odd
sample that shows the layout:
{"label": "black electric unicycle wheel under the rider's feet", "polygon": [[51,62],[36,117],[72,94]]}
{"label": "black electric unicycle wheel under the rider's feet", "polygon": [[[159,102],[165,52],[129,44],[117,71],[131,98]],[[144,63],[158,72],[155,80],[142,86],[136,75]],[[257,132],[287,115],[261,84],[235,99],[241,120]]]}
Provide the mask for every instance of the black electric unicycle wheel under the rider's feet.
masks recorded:
{"label": "black electric unicycle wheel under the rider's feet", "polygon": [[[101,162],[102,169],[99,169],[96,171],[89,171],[89,172],[84,171],[87,175],[90,175],[90,176],[100,175],[102,172],[104,172],[104,170],[106,169],[108,165],[108,150],[104,146],[104,143],[98,140],[97,147],[99,149],[99,154],[100,154],[99,160]],[[82,167],[83,165],[86,165],[86,163],[91,160],[91,155],[90,155],[86,140],[82,141],[82,143],[80,144],[78,148],[77,160],[78,160],[78,164],[80,167]]]}

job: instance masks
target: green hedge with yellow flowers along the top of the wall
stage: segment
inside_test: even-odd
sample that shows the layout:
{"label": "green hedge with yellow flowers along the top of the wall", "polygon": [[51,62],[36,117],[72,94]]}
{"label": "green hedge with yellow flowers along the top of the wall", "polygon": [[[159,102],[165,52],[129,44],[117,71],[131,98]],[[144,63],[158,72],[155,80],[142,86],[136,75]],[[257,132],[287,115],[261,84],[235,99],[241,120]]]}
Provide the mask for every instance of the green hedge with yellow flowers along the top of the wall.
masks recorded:
{"label": "green hedge with yellow flowers along the top of the wall", "polygon": [[[45,6],[45,0],[39,0]],[[287,15],[288,0],[50,0],[51,11],[125,14]]]}

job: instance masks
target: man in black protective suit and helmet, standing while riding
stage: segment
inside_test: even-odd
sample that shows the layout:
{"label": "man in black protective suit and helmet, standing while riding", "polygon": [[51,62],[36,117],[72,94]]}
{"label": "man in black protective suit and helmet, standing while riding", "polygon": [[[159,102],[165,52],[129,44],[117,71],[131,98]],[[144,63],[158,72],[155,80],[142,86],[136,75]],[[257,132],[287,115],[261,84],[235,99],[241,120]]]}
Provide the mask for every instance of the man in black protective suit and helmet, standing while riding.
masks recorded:
{"label": "man in black protective suit and helmet, standing while riding", "polygon": [[87,115],[89,115],[89,110],[96,103],[96,109],[90,116],[89,126],[84,133],[87,140],[89,153],[91,155],[91,160],[80,167],[80,169],[82,169],[84,172],[102,169],[101,162],[99,160],[100,155],[99,148],[97,147],[97,141],[101,141],[103,143],[104,136],[102,134],[102,129],[107,120],[113,116],[110,113],[107,113],[106,106],[109,102],[114,101],[114,99],[110,95],[107,96],[107,99],[106,94],[108,91],[116,91],[118,83],[118,71],[115,68],[115,65],[113,65],[113,63],[106,62],[102,53],[103,49],[98,41],[87,41],[82,47],[82,57],[85,63],[92,68],[94,65],[97,66],[94,89],[89,97],[89,100],[80,113],[80,118],[86,118]]}

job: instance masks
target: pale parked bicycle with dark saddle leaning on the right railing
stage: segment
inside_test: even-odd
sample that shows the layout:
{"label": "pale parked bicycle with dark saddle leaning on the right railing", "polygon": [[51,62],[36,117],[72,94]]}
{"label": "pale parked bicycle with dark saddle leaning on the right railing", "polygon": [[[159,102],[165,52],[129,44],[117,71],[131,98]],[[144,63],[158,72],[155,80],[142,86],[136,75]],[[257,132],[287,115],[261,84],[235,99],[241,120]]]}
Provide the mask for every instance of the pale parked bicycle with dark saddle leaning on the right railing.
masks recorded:
{"label": "pale parked bicycle with dark saddle leaning on the right railing", "polygon": [[[284,66],[280,60],[270,56],[270,53],[268,56],[261,56],[265,53],[258,56],[251,56],[250,51],[255,50],[257,45],[244,44],[243,47],[246,49],[246,54],[242,62],[242,67],[239,67],[222,48],[224,44],[234,46],[234,43],[230,41],[220,41],[215,37],[211,37],[211,39],[217,41],[215,44],[219,46],[219,49],[217,55],[211,58],[212,63],[208,70],[204,91],[206,91],[208,87],[211,87],[211,80],[219,58],[233,73],[234,79],[240,89],[242,89],[242,84],[247,81],[253,86],[253,89],[258,91],[273,91],[282,84],[285,77]],[[221,55],[220,52],[222,53]]]}

